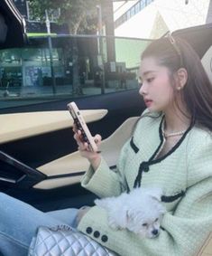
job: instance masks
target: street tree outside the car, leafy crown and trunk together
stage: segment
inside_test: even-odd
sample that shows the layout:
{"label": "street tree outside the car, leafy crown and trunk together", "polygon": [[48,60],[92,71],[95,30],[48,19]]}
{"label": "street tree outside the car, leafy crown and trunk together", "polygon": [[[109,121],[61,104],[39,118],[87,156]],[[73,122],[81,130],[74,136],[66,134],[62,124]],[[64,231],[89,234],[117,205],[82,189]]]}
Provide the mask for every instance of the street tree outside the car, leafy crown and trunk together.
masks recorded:
{"label": "street tree outside the car, leafy crown and trunk together", "polygon": [[[59,24],[68,24],[69,33],[97,32],[97,4],[100,0],[30,0],[32,20],[45,21],[45,10]],[[60,10],[60,11],[59,11]],[[58,15],[55,14],[58,11]],[[82,94],[78,73],[77,38],[72,38],[73,94]]]}

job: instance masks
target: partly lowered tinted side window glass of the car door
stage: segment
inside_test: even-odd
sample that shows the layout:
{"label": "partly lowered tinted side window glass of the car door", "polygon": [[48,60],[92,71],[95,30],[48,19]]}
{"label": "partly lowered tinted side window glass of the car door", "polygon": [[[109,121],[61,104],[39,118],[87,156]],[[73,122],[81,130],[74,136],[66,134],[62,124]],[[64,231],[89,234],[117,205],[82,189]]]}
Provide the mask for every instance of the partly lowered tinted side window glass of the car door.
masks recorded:
{"label": "partly lowered tinted side window glass of the car door", "polygon": [[30,37],[0,51],[0,109],[137,89],[150,41],[97,36]]}

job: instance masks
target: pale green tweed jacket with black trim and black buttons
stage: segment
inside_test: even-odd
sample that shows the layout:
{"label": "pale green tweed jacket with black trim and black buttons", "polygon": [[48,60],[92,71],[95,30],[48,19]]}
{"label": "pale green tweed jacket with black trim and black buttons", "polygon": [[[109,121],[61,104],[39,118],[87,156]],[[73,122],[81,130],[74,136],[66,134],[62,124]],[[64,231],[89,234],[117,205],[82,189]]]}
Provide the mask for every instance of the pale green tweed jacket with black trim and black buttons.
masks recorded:
{"label": "pale green tweed jacket with black trim and black buttons", "polygon": [[104,159],[97,171],[88,169],[82,186],[99,197],[121,194],[134,185],[160,186],[166,206],[160,235],[137,237],[108,227],[106,212],[92,207],[78,230],[121,256],[192,256],[212,231],[212,134],[190,127],[165,156],[162,117],[143,117],[121,151],[115,170]]}

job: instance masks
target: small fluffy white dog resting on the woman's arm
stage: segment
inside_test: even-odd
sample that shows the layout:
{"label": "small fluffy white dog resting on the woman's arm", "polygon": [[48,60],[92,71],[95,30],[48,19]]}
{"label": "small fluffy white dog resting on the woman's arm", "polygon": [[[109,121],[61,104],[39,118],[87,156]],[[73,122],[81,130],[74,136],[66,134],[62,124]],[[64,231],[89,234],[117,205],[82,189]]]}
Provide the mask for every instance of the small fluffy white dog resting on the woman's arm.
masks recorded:
{"label": "small fluffy white dog resting on the woman's arm", "polygon": [[95,204],[104,208],[111,228],[128,229],[139,236],[154,238],[159,234],[161,216],[160,188],[134,188],[130,194],[96,199]]}

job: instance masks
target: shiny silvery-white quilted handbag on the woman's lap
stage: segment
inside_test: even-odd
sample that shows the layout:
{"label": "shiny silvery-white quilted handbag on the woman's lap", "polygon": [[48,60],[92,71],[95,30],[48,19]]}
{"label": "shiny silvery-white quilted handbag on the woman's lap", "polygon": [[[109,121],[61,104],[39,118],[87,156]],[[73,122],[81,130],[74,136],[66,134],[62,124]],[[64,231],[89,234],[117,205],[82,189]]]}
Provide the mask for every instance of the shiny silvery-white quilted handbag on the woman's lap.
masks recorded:
{"label": "shiny silvery-white quilted handbag on the woman's lap", "polygon": [[28,256],[118,256],[69,226],[41,226],[32,239]]}

